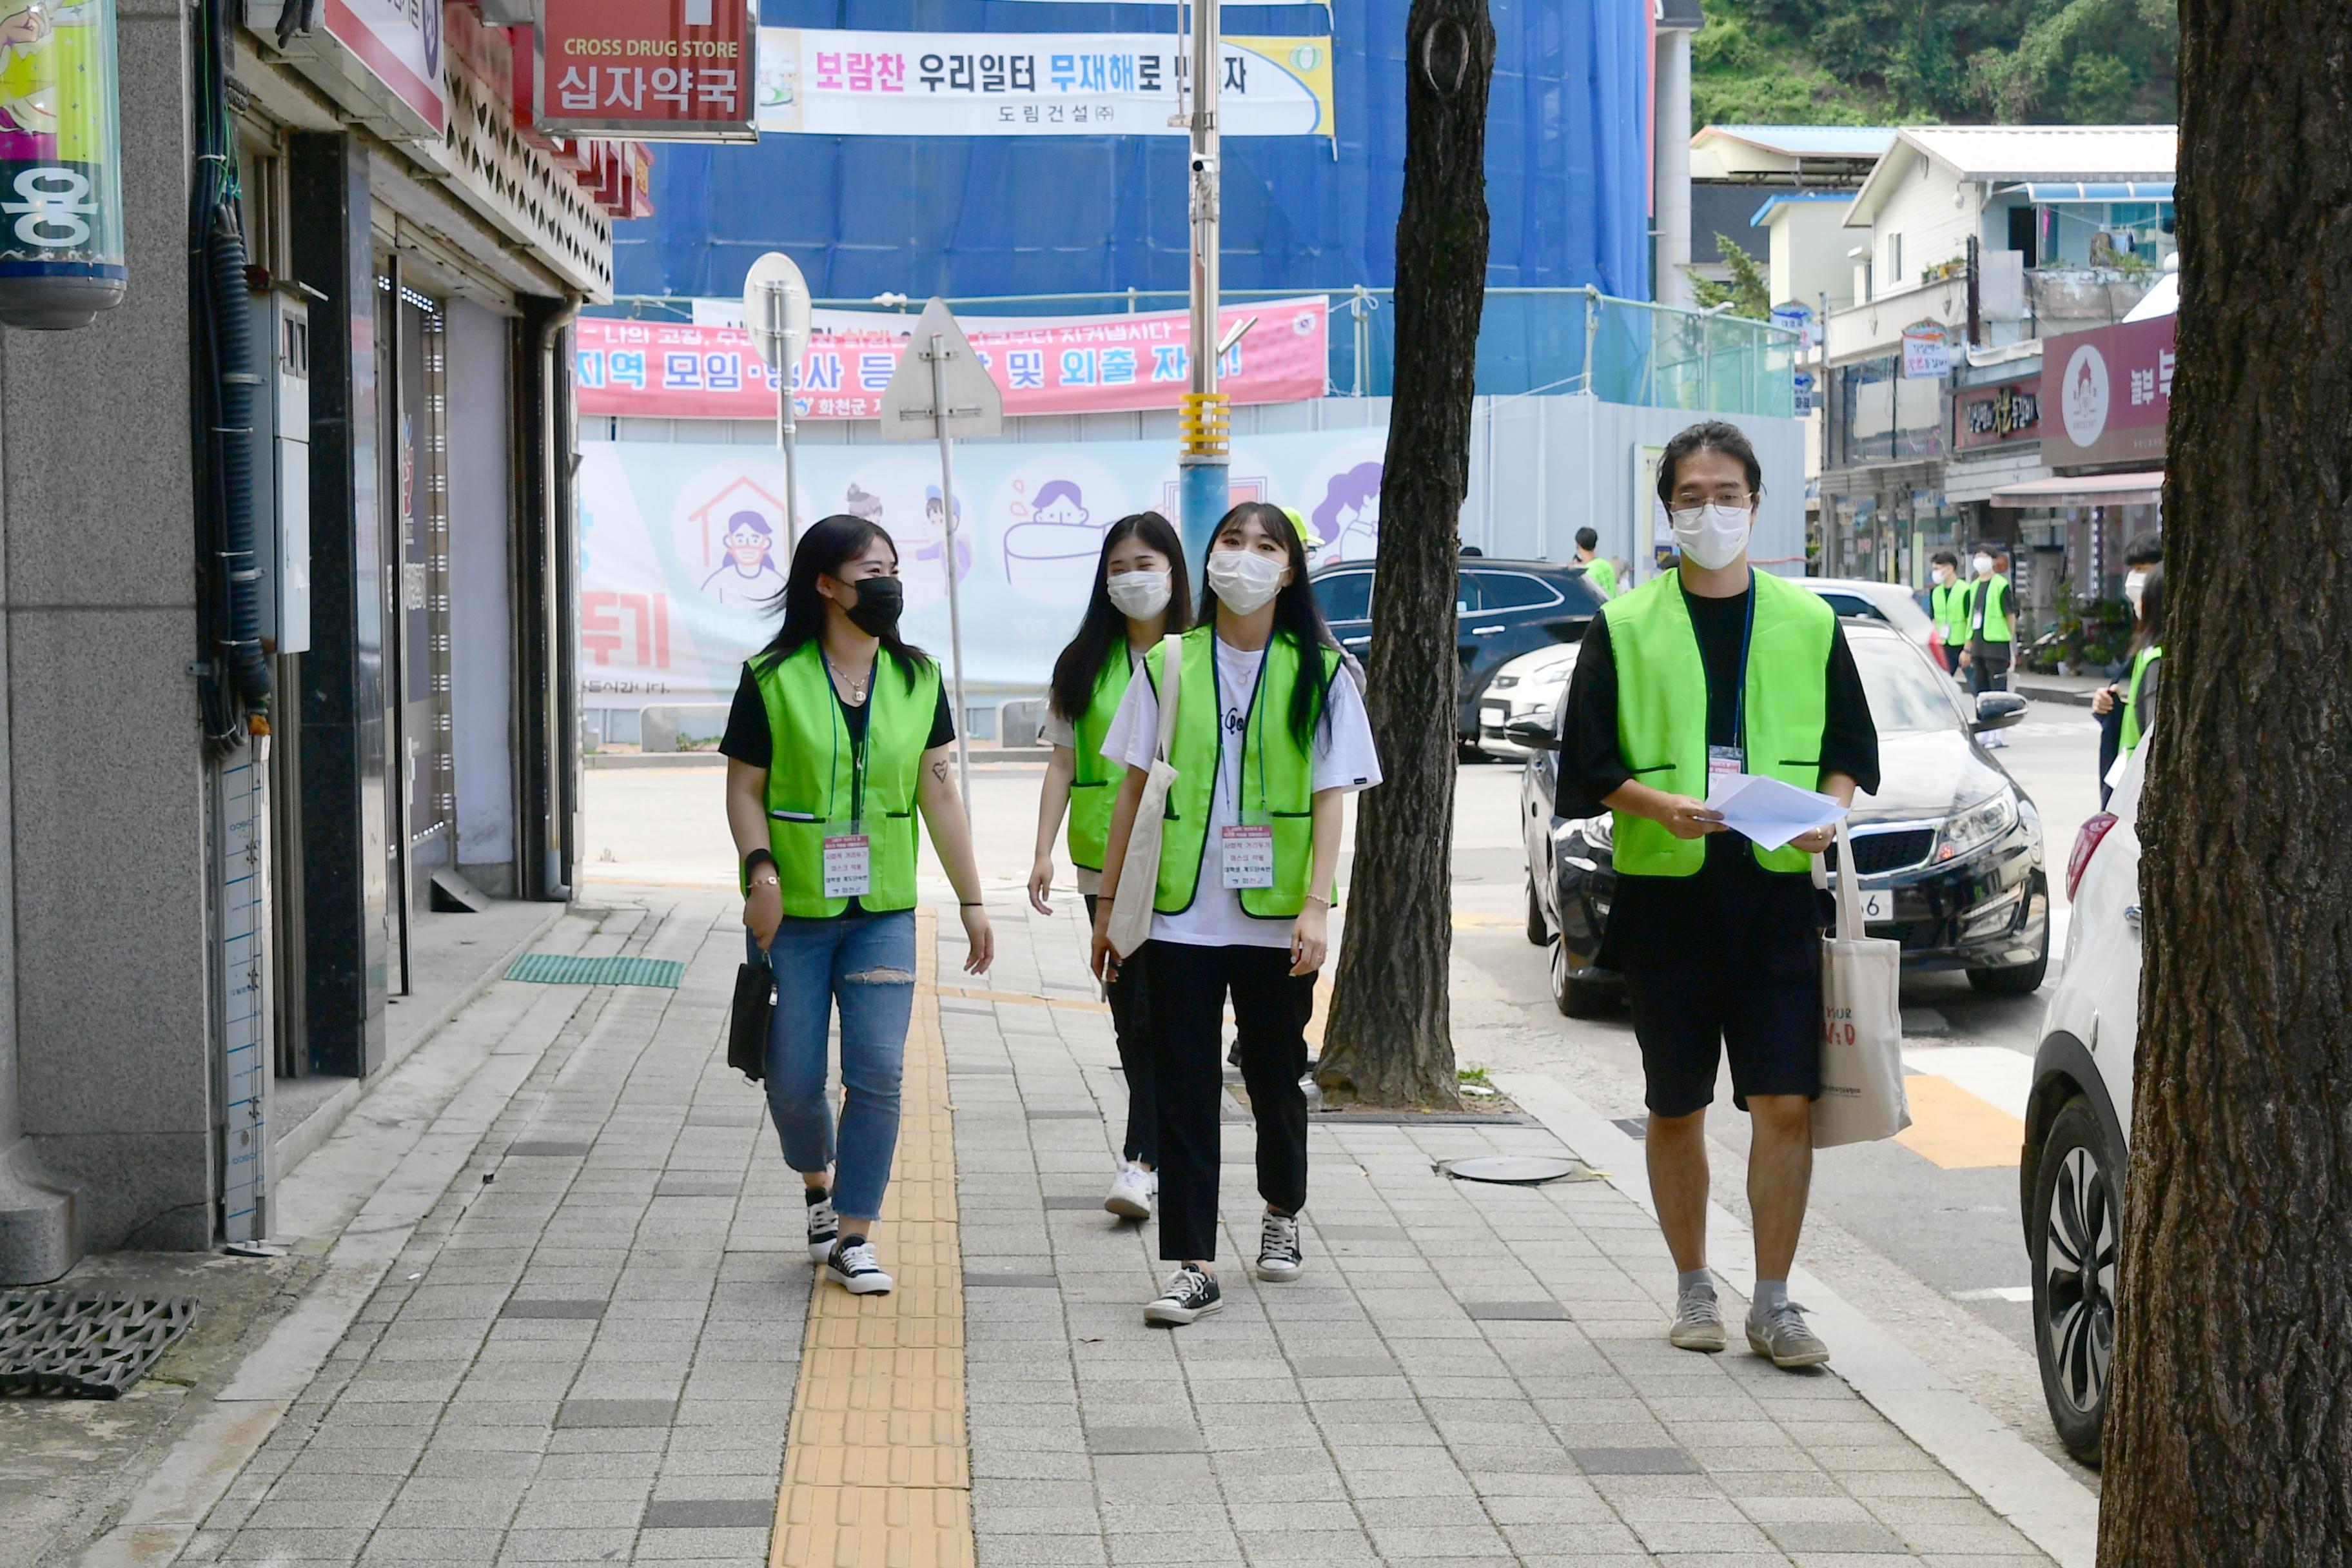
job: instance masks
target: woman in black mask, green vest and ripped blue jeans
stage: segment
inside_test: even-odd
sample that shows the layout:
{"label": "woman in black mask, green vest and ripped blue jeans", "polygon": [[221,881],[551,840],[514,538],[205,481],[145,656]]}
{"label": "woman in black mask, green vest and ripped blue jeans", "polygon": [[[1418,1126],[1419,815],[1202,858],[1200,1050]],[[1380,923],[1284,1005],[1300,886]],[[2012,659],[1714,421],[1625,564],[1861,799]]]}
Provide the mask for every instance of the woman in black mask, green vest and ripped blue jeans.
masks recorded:
{"label": "woman in black mask, green vest and ripped blue jeans", "polygon": [[[767,1107],[804,1187],[809,1258],[858,1295],[891,1288],[873,1227],[915,1009],[917,811],[962,900],[964,969],[995,957],[950,773],[955,719],[938,665],[898,637],[903,599],[889,534],[840,512],[814,524],[793,550],[783,628],[743,665],[720,741],[750,957],[764,952],[776,973]],[[835,1006],[837,1145],[826,1100]]]}

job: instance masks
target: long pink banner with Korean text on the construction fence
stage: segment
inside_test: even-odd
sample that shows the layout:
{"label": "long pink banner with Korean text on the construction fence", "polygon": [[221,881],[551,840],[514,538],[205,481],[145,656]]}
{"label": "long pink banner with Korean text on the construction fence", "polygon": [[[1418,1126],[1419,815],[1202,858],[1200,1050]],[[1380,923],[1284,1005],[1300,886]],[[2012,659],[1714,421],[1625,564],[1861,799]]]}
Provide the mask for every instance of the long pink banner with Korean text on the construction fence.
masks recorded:
{"label": "long pink banner with Korean text on the construction fence", "polygon": [[[1218,339],[1254,324],[1218,362],[1232,402],[1301,402],[1324,395],[1331,313],[1324,299],[1284,299],[1223,310]],[[875,418],[898,369],[913,315],[875,315],[875,327],[816,327],[800,360],[800,418]],[[903,322],[903,324],[898,324]],[[988,329],[964,320],[971,348],[1004,390],[1007,414],[1174,409],[1192,386],[1190,317],[1089,315]],[[581,317],[579,411],[656,418],[776,418],[776,376],[741,327]]]}

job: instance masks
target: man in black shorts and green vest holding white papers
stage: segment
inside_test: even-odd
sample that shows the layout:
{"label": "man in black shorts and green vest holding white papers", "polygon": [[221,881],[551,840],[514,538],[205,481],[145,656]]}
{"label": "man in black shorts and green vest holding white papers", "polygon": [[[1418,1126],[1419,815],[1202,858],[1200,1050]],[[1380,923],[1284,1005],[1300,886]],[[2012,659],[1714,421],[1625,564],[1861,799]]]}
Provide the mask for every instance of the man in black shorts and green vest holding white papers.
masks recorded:
{"label": "man in black shorts and green vest holding white papers", "polygon": [[[1679,567],[1611,599],[1576,656],[1559,750],[1562,816],[1609,816],[1616,903],[1602,961],[1625,976],[1649,1100],[1649,1185],[1679,1269],[1668,1340],[1722,1349],[1708,1272],[1708,1105],[1731,1058],[1750,1117],[1757,1288],[1748,1345],[1776,1366],[1828,1347],[1788,1300],[1813,1178],[1820,926],[1811,856],[1830,830],[1764,851],[1705,804],[1717,773],[1769,773],[1853,802],[1879,738],[1825,599],[1748,567],[1764,473],[1738,428],[1665,447],[1658,498]],[[1588,830],[1590,832],[1590,830]]]}

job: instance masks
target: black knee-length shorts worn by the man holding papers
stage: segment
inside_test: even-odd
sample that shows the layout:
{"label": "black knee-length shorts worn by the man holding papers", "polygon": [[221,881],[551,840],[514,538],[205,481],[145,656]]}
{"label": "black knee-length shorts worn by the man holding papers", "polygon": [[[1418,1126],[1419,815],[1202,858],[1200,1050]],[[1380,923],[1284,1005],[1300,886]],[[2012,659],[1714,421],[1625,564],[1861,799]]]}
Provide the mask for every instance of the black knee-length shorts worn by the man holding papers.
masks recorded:
{"label": "black knee-length shorts worn by the man holding papers", "polygon": [[1625,971],[1653,1114],[1689,1117],[1712,1105],[1724,1048],[1740,1110],[1748,1095],[1820,1095],[1820,971],[1762,969],[1710,961]]}

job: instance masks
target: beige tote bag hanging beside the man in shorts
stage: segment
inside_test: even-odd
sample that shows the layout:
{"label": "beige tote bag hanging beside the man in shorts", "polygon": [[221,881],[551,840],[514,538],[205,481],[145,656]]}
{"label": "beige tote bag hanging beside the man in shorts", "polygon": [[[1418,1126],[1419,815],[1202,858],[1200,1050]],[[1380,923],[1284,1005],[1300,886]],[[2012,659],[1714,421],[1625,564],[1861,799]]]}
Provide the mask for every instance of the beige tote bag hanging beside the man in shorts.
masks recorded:
{"label": "beige tote bag hanging beside the man in shorts", "polygon": [[1893,1138],[1903,1095],[1903,943],[1863,936],[1853,844],[1837,823],[1837,931],[1820,938],[1820,1098],[1813,1147]]}

